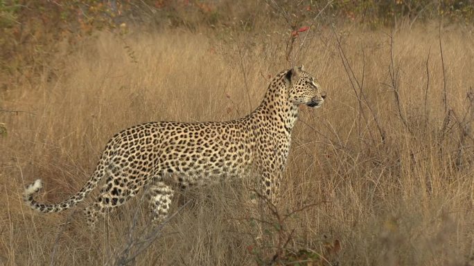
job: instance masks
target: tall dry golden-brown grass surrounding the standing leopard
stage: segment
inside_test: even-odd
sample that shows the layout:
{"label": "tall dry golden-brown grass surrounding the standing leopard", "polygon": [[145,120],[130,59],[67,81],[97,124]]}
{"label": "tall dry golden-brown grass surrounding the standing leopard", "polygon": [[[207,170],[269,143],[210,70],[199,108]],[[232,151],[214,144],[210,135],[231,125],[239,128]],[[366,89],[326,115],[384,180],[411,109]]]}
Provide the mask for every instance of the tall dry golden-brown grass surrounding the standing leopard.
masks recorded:
{"label": "tall dry golden-brown grass surrounding the standing leopard", "polygon": [[[385,32],[344,31],[342,50],[323,29],[301,52],[328,99],[316,111],[303,107],[295,129],[281,209],[317,205],[286,222],[295,229],[288,248],[320,251],[337,239],[340,265],[473,265],[473,32],[441,31],[444,79],[435,26],[395,32],[393,68]],[[259,104],[267,76],[288,68],[277,33],[231,43],[206,36],[179,30],[131,35],[126,41],[134,63],[120,39],[102,34],[64,55],[67,65],[57,76],[45,71],[40,82],[3,95],[3,108],[30,113],[0,113],[8,128],[0,139],[0,265],[110,262],[130,237],[134,213],[132,236],[148,223],[139,199],[89,231],[81,211],[30,211],[21,202],[24,185],[42,178],[40,200],[67,198],[89,178],[117,131],[154,120],[244,115]],[[362,89],[354,77],[354,87],[349,82],[349,66],[359,84],[363,79]],[[389,69],[398,70],[393,83]],[[179,203],[191,204],[135,265],[256,265],[250,245],[270,256],[265,245],[274,235],[255,244],[260,229],[245,218],[257,211],[247,204],[245,187],[216,184],[181,196]]]}

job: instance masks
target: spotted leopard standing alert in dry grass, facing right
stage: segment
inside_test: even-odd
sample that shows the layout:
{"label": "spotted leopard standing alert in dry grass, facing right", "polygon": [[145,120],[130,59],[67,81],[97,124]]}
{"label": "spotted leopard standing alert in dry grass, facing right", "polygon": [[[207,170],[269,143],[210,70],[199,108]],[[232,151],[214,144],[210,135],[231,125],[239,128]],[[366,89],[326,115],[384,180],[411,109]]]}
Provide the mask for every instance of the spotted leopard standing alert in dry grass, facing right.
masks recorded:
{"label": "spotted leopard standing alert in dry grass, facing right", "polygon": [[249,173],[257,176],[261,195],[276,202],[300,106],[319,108],[325,98],[317,79],[303,66],[283,70],[271,79],[261,104],[245,117],[131,126],[107,142],[80,191],[59,203],[37,202],[33,196],[43,187],[37,179],[26,186],[24,202],[41,213],[64,211],[85,200],[105,180],[97,200],[84,210],[90,227],[98,214],[123,205],[143,190],[151,219],[159,222],[168,217],[177,191]]}

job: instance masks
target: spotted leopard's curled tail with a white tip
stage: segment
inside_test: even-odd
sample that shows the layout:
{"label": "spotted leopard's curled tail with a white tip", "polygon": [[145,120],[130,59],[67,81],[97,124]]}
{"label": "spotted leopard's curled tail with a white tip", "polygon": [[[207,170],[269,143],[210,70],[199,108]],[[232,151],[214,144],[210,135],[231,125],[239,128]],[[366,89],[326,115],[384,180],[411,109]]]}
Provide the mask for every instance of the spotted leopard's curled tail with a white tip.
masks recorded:
{"label": "spotted leopard's curled tail with a white tip", "polygon": [[74,194],[73,196],[69,197],[67,200],[64,200],[59,203],[54,204],[44,204],[37,202],[33,195],[42,189],[43,184],[42,180],[38,179],[35,182],[29,184],[24,192],[23,199],[31,209],[35,211],[40,211],[42,213],[50,213],[50,212],[60,212],[66,209],[69,209],[82,200],[86,198],[89,193],[97,187],[98,182],[103,178],[105,169],[103,167],[103,160],[100,160],[99,164],[92,174],[91,178],[87,181],[84,187],[78,191],[78,193]]}

